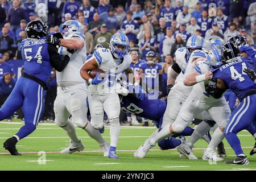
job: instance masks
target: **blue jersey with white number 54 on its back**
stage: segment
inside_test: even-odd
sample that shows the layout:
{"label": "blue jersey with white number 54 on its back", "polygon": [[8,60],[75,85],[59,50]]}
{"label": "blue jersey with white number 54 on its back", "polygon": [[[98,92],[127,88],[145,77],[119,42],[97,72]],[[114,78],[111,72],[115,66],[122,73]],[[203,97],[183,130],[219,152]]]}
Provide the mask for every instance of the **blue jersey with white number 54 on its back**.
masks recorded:
{"label": "blue jersey with white number 54 on its back", "polygon": [[47,82],[51,75],[52,65],[49,61],[46,37],[24,39],[21,51],[22,59],[24,60],[24,72]]}

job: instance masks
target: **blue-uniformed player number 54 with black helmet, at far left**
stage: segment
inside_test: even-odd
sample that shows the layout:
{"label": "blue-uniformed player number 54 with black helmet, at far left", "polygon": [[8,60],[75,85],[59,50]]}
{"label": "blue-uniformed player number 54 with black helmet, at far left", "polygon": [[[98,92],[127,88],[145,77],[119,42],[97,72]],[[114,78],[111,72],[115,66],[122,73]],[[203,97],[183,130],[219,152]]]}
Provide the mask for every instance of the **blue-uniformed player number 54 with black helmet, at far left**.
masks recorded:
{"label": "blue-uniformed player number 54 with black helmet, at far left", "polygon": [[2,120],[10,117],[14,111],[23,106],[24,126],[3,143],[3,147],[11,155],[20,155],[16,150],[16,143],[36,129],[43,115],[46,94],[44,90],[47,89],[46,82],[51,76],[52,67],[59,72],[63,71],[72,55],[66,52],[61,59],[57,48],[46,43],[48,26],[40,20],[29,22],[25,32],[27,39],[22,40],[21,44],[24,73],[0,109],[0,120]]}

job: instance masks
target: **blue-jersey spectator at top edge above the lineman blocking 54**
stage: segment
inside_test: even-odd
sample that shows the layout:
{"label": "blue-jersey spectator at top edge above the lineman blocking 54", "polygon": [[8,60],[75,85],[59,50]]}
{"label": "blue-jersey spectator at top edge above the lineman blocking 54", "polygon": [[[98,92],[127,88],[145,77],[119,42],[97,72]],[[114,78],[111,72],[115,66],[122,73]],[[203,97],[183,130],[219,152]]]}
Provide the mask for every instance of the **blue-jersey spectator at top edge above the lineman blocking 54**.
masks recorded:
{"label": "blue-jersey spectator at top edge above the lineman blocking 54", "polygon": [[63,6],[62,11],[62,22],[65,22],[65,14],[71,14],[71,18],[75,19],[76,13],[79,10],[80,3],[75,0],[68,0],[67,3]]}

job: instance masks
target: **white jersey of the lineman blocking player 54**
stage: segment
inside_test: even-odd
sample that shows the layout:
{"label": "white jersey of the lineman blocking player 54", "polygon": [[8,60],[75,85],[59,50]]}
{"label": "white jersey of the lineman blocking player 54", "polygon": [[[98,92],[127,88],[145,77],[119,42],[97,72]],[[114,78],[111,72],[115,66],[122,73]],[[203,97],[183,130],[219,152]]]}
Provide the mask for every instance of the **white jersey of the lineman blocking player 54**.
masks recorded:
{"label": "white jersey of the lineman blocking player 54", "polygon": [[[81,39],[84,41],[84,47],[77,49],[70,58],[70,61],[62,72],[57,72],[57,84],[61,87],[81,84],[85,80],[80,76],[79,70],[86,61],[86,44],[85,36],[80,32],[75,32],[64,39]],[[67,48],[59,48],[60,55],[65,55]]]}

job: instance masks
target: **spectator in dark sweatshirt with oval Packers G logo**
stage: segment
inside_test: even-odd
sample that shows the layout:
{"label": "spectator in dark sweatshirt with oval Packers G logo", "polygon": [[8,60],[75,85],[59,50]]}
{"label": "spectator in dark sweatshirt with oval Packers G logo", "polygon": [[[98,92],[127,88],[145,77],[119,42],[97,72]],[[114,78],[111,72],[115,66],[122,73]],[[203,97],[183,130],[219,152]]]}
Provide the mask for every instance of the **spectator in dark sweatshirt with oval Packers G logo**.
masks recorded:
{"label": "spectator in dark sweatshirt with oval Packers G logo", "polygon": [[112,34],[108,32],[108,28],[105,23],[101,25],[101,31],[94,37],[94,45],[102,44],[103,47],[109,48],[107,42],[110,41]]}

